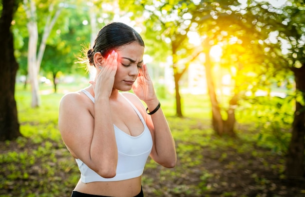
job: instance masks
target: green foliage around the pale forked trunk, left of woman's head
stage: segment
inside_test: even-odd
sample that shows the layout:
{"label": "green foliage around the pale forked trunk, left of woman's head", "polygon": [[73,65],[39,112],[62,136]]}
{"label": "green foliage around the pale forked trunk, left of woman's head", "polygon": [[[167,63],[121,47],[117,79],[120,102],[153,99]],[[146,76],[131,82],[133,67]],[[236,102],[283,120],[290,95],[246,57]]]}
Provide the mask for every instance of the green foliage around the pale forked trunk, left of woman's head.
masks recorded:
{"label": "green foliage around the pale forked trunk, left of woman's head", "polygon": [[[90,46],[90,35],[97,34],[97,30],[92,30],[90,23],[92,18],[89,14],[91,8],[95,6],[94,12],[97,11],[97,4],[101,5],[100,1],[95,1],[95,4],[90,4],[80,0],[76,1],[46,1],[36,0],[37,15],[38,15],[38,44],[41,43],[41,37],[43,35],[43,25],[45,18],[47,18],[48,8],[50,3],[55,3],[55,9],[62,9],[59,18],[46,42],[46,49],[43,55],[41,63],[41,75],[48,75],[51,73],[54,85],[57,83],[57,79],[63,73],[82,73],[84,65],[75,64],[78,62],[78,57],[82,56],[82,48]],[[106,3],[106,1],[104,1]],[[50,13],[52,14],[52,13]],[[110,11],[99,12],[94,18],[100,25],[110,22],[112,17]],[[109,18],[104,18],[105,16]],[[15,46],[17,50],[15,54],[18,58],[20,68],[19,74],[27,75],[27,54],[28,54],[28,32],[26,29],[26,14],[23,6],[19,7],[18,14],[14,18],[14,36]]]}

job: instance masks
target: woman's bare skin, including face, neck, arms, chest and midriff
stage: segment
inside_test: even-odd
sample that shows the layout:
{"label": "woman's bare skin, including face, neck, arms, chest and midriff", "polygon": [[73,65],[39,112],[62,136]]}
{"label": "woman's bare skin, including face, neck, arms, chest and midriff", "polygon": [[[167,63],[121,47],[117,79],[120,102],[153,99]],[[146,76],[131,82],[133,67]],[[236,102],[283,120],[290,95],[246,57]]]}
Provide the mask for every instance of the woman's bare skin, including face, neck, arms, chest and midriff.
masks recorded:
{"label": "woman's bare skin, including face, neck, arms, chest and midriff", "polygon": [[[66,94],[60,102],[58,126],[68,150],[104,178],[112,178],[116,172],[113,124],[132,136],[138,136],[144,130],[122,94],[137,107],[150,129],[153,141],[150,157],[164,167],[172,168],[176,164],[175,145],[162,108],[148,115],[141,102],[144,101],[151,111],[159,103],[147,66],[143,64],[143,54],[144,47],[137,42],[124,45],[107,57],[95,53],[97,74],[90,82],[91,86],[85,88],[95,97],[95,104],[81,91]],[[134,94],[119,93],[119,90],[131,89]],[[86,184],[79,180],[75,190],[94,195],[133,197],[141,190],[141,177]]]}

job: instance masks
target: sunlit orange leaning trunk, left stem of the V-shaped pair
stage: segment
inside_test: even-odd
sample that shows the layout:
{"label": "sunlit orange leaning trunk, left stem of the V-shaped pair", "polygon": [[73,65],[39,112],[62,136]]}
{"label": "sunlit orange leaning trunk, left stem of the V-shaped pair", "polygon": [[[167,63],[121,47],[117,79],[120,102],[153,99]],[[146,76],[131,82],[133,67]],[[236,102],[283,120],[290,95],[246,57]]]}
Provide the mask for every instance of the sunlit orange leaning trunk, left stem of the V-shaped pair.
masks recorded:
{"label": "sunlit orange leaning trunk, left stem of the V-shaped pair", "polygon": [[[210,50],[207,51],[210,52]],[[206,54],[206,64],[205,64],[206,79],[207,79],[208,91],[209,91],[211,107],[212,107],[212,126],[216,134],[222,135],[224,131],[224,124],[223,124],[224,121],[220,113],[220,107],[217,101],[214,82],[212,79],[210,55],[209,53],[205,53],[205,54]]]}

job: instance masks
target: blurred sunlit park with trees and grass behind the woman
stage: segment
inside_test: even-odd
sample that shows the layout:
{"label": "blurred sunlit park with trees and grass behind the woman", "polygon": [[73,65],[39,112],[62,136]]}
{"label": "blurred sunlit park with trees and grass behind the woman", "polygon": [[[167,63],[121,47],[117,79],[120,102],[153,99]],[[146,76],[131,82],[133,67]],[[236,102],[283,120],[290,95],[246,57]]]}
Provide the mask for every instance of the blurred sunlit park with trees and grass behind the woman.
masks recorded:
{"label": "blurred sunlit park with trees and grass behind the woman", "polygon": [[176,141],[177,167],[147,161],[146,196],[305,196],[303,0],[2,0],[0,13],[0,197],[71,194],[58,104],[89,86],[78,57],[114,21],[143,37]]}

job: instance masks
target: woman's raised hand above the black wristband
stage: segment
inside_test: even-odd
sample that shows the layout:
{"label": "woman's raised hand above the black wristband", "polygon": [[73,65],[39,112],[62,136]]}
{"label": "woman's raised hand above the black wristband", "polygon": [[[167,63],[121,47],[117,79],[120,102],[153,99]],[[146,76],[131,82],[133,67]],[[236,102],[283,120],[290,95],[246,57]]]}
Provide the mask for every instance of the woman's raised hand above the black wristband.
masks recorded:
{"label": "woman's raised hand above the black wristband", "polygon": [[146,64],[139,70],[138,77],[133,84],[133,92],[144,102],[156,99],[151,77],[148,74]]}

